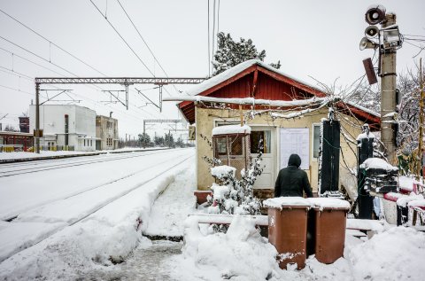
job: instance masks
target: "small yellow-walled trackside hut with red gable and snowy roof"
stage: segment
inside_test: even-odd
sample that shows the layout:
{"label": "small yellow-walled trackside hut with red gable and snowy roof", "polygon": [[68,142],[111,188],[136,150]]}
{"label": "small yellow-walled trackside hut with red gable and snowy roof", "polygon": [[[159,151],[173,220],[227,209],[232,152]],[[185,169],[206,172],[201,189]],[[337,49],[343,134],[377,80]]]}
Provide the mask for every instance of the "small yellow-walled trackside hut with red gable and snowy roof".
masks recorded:
{"label": "small yellow-walled trackside hut with red gable and snowy roof", "polygon": [[[321,121],[329,112],[324,104],[328,96],[323,91],[252,59],[198,84],[187,94],[188,97],[168,100],[181,101],[177,106],[182,115],[189,124],[196,124],[199,191],[208,191],[213,183],[205,157],[227,159],[230,166],[232,160],[240,157],[233,154],[239,143],[229,145],[214,130],[223,125],[240,127],[241,120],[251,128],[249,144],[240,146],[247,152],[245,157],[255,158],[259,140],[263,142],[262,164],[266,167],[255,182],[255,195],[262,199],[273,196],[275,178],[287,166],[292,152],[300,155],[301,168],[309,176],[313,192],[318,191]],[[344,161],[339,168],[339,175],[343,176],[357,166],[355,137],[361,126],[368,123],[372,130],[378,130],[380,117],[350,102],[336,101],[332,106],[344,132],[340,136]],[[213,140],[214,150],[208,140]]]}

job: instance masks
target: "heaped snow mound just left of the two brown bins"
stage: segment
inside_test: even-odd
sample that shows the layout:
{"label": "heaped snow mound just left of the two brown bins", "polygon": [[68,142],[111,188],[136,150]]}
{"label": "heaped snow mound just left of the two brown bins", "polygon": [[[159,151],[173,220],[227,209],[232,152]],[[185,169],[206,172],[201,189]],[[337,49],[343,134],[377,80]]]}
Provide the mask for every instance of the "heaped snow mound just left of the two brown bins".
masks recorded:
{"label": "heaped snow mound just left of the two brown bins", "polygon": [[175,279],[193,280],[265,280],[279,270],[277,252],[267,238],[262,238],[250,217],[235,215],[227,233],[204,235],[197,219],[186,221],[185,245],[180,275]]}

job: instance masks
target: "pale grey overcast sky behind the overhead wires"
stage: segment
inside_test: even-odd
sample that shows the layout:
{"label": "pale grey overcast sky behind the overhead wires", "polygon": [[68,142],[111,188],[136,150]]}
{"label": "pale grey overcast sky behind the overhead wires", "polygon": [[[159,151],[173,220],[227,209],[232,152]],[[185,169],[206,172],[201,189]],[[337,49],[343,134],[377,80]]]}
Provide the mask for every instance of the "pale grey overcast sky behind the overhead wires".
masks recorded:
{"label": "pale grey overcast sky behind the overhead wires", "polygon": [[[18,116],[27,113],[28,105],[35,99],[34,77],[72,77],[73,74],[81,77],[103,77],[103,74],[206,77],[209,74],[208,38],[212,41],[214,0],[92,1],[100,12],[106,14],[107,20],[140,59],[89,0],[0,1],[0,10],[47,39],[35,35],[0,12],[0,118],[8,114],[0,121],[4,127],[6,124],[18,127]],[[376,3],[367,0],[215,0],[215,32],[218,29],[230,33],[234,39],[251,38],[258,50],[267,51],[267,63],[281,60],[281,70],[300,80],[315,83],[313,77],[331,84],[337,79],[337,83],[344,86],[364,74],[361,61],[374,54],[372,50],[359,51],[359,41],[367,27],[364,20],[367,7]],[[402,34],[425,36],[425,1],[393,0],[380,1],[379,4],[383,4],[387,12],[397,14]],[[73,59],[55,45],[96,70]],[[409,43],[403,44],[398,51],[399,73],[414,67],[420,57],[425,58],[425,51],[422,51],[413,59],[419,51]],[[145,119],[181,118],[174,104],[164,103],[163,113],[159,113],[157,107],[146,105],[146,100],[133,90],[144,90],[152,101],[158,103],[158,89],[151,89],[153,87],[146,84],[130,87],[130,108],[127,111],[123,105],[105,103],[110,97],[102,90],[122,90],[120,86],[103,85],[100,89],[95,86],[58,85],[60,89],[72,89],[74,95],[71,96],[81,100],[79,105],[88,106],[97,114],[109,115],[112,111],[112,116],[119,119],[120,137],[142,132]],[[42,89],[51,88],[42,86]],[[176,89],[184,91],[188,86],[176,85]],[[176,89],[166,86],[164,95],[183,95]],[[46,92],[42,92],[42,96],[45,95]],[[54,93],[50,91],[49,95]],[[59,99],[69,97],[61,96]],[[166,126],[161,128],[167,129]],[[153,135],[153,130],[149,128],[148,133]]]}

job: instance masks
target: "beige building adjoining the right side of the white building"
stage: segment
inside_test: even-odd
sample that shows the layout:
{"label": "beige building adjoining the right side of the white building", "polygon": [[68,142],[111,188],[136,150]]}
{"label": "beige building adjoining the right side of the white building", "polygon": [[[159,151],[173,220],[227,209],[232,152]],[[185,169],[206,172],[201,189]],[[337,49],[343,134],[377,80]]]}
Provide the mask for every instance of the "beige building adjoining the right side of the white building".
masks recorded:
{"label": "beige building adjoining the right side of the white building", "polygon": [[[112,114],[111,114],[112,115]],[[118,148],[118,120],[112,116],[96,116],[96,150]]]}

